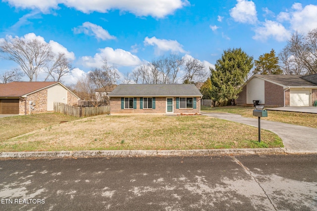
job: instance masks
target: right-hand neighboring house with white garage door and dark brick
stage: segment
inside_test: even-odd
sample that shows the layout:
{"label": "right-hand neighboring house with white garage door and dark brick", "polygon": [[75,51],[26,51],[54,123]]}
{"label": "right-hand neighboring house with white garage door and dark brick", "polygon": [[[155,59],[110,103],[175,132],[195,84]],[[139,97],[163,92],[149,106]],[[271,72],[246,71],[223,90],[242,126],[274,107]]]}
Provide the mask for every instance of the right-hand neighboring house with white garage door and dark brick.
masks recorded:
{"label": "right-hand neighboring house with white garage door and dark brick", "polygon": [[317,74],[254,75],[243,84],[236,104],[253,106],[253,100],[266,106],[314,106]]}

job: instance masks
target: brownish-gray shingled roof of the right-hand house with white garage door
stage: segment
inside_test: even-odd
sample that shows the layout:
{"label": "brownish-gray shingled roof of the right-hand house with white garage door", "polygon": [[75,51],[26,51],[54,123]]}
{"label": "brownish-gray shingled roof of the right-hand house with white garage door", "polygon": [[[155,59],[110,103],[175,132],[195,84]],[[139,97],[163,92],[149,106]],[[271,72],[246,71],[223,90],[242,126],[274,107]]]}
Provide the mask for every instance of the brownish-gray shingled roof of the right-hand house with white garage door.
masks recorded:
{"label": "brownish-gray shingled roof of the right-hand house with white garage door", "polygon": [[257,75],[257,77],[285,86],[317,86],[317,84],[303,79],[301,75]]}

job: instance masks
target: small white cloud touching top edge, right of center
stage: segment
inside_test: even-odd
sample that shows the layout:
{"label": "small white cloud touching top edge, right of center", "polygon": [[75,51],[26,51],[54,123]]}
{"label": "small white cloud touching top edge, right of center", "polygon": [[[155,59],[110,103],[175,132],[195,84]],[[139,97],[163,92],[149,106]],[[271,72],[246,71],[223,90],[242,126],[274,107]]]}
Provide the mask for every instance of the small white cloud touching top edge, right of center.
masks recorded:
{"label": "small white cloud touching top edge, right of center", "polygon": [[237,2],[230,10],[230,16],[236,22],[255,24],[258,20],[255,3],[252,0],[237,0]]}

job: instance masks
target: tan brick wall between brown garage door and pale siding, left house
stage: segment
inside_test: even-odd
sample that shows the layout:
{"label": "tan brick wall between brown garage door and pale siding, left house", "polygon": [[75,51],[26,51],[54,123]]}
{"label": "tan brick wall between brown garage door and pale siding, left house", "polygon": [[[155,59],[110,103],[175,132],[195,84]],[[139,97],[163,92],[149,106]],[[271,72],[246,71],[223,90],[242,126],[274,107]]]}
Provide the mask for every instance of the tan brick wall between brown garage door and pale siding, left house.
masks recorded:
{"label": "tan brick wall between brown garage door and pale siding, left house", "polygon": [[[48,89],[43,89],[41,91],[30,94],[26,98],[26,114],[30,114],[30,101],[32,101],[31,114],[43,113],[48,110]],[[33,103],[35,102],[35,105]],[[20,100],[20,115],[25,114],[25,102]]]}

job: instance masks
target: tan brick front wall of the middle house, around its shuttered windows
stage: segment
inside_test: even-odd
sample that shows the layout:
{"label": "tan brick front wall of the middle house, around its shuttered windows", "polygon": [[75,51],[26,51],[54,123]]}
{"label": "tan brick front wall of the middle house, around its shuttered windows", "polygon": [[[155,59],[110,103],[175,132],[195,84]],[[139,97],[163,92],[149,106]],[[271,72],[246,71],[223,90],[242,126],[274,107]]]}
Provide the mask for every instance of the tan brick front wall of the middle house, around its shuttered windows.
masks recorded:
{"label": "tan brick front wall of the middle house, around its shuttered windows", "polygon": [[[176,99],[173,97],[174,114],[200,113],[200,98],[196,98],[196,109],[176,109]],[[155,109],[140,109],[140,97],[137,97],[137,109],[121,109],[121,97],[110,98],[110,114],[165,114],[166,97],[155,98]]]}

